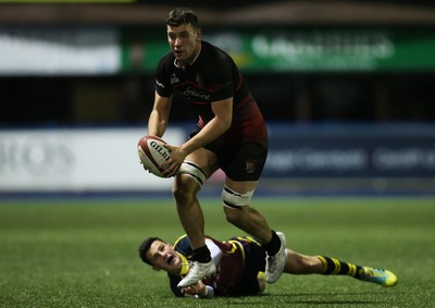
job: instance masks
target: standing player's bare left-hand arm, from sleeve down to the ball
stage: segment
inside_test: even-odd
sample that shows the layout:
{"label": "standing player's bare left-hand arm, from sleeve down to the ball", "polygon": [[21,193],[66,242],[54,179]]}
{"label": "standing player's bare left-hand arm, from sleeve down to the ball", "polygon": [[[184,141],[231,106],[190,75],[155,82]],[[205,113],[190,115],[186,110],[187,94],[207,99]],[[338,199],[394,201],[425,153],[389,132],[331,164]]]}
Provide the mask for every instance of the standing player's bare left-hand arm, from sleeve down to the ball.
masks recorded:
{"label": "standing player's bare left-hand arm, from sleeve down to the ball", "polygon": [[163,97],[154,93],[154,106],[148,120],[148,135],[162,137],[170,120],[172,96]]}

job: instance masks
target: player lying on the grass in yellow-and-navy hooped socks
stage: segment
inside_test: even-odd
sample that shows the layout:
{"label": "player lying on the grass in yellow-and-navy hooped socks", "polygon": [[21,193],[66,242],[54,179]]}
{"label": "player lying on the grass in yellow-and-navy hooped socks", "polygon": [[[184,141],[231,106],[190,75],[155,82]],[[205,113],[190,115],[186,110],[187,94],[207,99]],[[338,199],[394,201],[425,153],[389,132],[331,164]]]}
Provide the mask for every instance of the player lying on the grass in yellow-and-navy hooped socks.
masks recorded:
{"label": "player lying on the grass in yellow-and-navy hooped socks", "polygon": [[[232,237],[221,242],[208,236],[206,244],[212,254],[216,273],[184,288],[178,288],[177,284],[189,270],[189,258],[192,252],[186,235],[179,237],[174,246],[159,237],[148,237],[139,247],[139,257],[154,270],[167,272],[171,289],[175,296],[212,298],[254,295],[264,291],[265,250],[254,238]],[[288,248],[286,248],[284,272],[348,275],[387,287],[395,286],[398,282],[397,276],[387,270],[357,266],[325,256],[301,255]]]}

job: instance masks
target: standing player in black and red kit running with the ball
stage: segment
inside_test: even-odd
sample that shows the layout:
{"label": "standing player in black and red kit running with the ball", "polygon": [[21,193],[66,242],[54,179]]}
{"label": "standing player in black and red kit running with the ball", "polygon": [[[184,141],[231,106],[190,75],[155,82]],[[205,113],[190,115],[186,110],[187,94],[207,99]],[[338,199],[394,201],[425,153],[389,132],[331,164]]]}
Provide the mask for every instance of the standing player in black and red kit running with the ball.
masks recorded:
{"label": "standing player in black and red kit running with the ball", "polygon": [[161,165],[165,176],[175,176],[177,213],[194,249],[189,271],[177,286],[195,285],[215,272],[197,194],[219,169],[225,173],[222,201],[226,220],[261,243],[266,251],[265,278],[274,283],[285,264],[285,236],[278,236],[250,207],[268,156],[264,119],[233,59],[202,41],[194,11],[171,11],[166,35],[171,51],[157,66],[148,135],[163,136],[171,104],[177,103],[172,101],[174,91],[187,98],[198,114],[194,133],[183,145],[167,145],[171,158]]}

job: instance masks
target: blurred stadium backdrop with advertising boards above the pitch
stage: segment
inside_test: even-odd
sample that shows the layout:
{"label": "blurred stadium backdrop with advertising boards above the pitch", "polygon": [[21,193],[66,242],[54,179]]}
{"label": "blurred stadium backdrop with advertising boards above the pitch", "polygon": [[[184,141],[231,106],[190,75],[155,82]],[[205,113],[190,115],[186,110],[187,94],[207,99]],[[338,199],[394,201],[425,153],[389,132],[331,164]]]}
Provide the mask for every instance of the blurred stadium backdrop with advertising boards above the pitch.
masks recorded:
{"label": "blurred stadium backdrop with advertising boards above the pitch", "polygon": [[[260,194],[435,194],[433,1],[0,3],[0,198],[169,194],[135,146],[179,5],[234,57],[270,124]],[[165,139],[191,127],[175,102]]]}

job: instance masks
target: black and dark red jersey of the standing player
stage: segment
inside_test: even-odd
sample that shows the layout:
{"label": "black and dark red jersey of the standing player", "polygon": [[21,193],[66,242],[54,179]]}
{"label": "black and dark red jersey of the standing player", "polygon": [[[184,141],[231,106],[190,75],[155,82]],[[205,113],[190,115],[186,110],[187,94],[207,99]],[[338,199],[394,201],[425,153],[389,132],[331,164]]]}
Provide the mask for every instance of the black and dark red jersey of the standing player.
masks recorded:
{"label": "black and dark red jersey of the standing player", "polygon": [[268,144],[263,115],[237,65],[227,53],[207,41],[202,41],[198,57],[185,69],[177,66],[172,52],[166,53],[157,66],[156,90],[162,97],[176,90],[190,101],[199,118],[199,130],[214,118],[211,102],[233,98],[232,125],[213,141],[214,148],[223,144]]}

